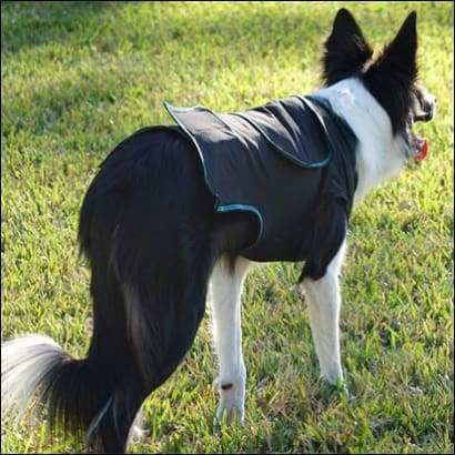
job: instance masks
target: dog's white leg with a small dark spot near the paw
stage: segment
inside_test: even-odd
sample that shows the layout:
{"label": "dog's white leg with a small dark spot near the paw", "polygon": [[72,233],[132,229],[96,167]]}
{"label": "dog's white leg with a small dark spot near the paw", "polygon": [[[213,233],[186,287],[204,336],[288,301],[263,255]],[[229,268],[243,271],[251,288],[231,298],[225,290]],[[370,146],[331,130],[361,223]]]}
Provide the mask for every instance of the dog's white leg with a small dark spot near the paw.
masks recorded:
{"label": "dog's white leg with a small dark spot near the paw", "polygon": [[241,293],[249,261],[239,257],[232,270],[220,261],[211,277],[213,338],[220,363],[215,380],[220,393],[216,418],[226,414],[228,424],[234,417],[244,418],[246,371],[242,355]]}

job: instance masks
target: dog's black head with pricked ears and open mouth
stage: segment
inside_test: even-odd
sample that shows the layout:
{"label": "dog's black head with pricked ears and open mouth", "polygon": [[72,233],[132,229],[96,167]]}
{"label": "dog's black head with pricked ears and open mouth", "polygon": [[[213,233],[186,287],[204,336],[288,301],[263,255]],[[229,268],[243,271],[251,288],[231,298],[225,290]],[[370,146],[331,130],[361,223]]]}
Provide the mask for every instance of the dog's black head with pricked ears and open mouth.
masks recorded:
{"label": "dog's black head with pricked ears and open mouth", "polygon": [[374,58],[353,16],[341,9],[325,41],[323,75],[326,85],[358,78],[387,113],[393,135],[404,139],[406,155],[418,160],[425,158],[427,143],[413,132],[413,124],[433,119],[436,99],[417,82],[416,52],[415,12]]}

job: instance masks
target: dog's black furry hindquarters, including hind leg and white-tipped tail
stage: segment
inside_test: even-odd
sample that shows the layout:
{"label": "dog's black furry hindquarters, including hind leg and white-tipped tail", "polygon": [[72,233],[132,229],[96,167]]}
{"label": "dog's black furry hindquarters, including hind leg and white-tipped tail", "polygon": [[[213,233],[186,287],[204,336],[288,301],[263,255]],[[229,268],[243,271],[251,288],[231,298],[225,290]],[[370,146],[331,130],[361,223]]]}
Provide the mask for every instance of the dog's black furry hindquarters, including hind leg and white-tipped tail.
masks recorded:
{"label": "dog's black furry hindquarters, including hind leg and white-tipped tail", "polygon": [[123,143],[84,199],[79,240],[94,321],[87,358],[36,335],[2,346],[2,413],[20,415],[38,396],[51,425],[95,451],[125,449],[143,400],[182,361],[205,310],[213,201],[188,144],[160,138],[160,153],[146,132]]}

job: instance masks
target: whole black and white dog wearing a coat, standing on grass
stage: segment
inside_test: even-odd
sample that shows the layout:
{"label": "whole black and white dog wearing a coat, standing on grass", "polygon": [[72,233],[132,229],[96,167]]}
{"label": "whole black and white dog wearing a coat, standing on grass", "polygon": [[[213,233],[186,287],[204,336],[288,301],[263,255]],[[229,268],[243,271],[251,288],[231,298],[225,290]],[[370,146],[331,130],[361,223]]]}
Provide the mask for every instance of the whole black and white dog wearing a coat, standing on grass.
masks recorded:
{"label": "whole black and white dog wearing a coat, standing on grass", "polygon": [[338,273],[351,206],[427,152],[412,127],[433,118],[435,99],[416,84],[416,50],[414,12],[373,58],[342,9],[325,41],[322,90],[239,114],[170,108],[179,125],[122,142],[80,213],[92,272],[88,355],[73,360],[38,335],[6,342],[2,415],[23,415],[34,398],[51,425],[124,452],[143,401],[192,345],[210,282],[216,415],[243,421],[240,302],[252,261],[304,261],[321,375],[342,381]]}

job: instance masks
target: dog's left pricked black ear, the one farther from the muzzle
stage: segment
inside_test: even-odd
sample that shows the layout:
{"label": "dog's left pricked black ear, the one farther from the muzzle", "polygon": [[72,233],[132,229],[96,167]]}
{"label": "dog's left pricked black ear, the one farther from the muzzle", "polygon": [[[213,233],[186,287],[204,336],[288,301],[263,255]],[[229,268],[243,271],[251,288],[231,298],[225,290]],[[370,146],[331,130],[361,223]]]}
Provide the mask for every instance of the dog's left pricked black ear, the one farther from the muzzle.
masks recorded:
{"label": "dog's left pricked black ear, the one farther from the muzzle", "polygon": [[336,13],[324,50],[323,77],[326,85],[332,85],[353,72],[362,70],[373,54],[357,22],[345,8]]}

